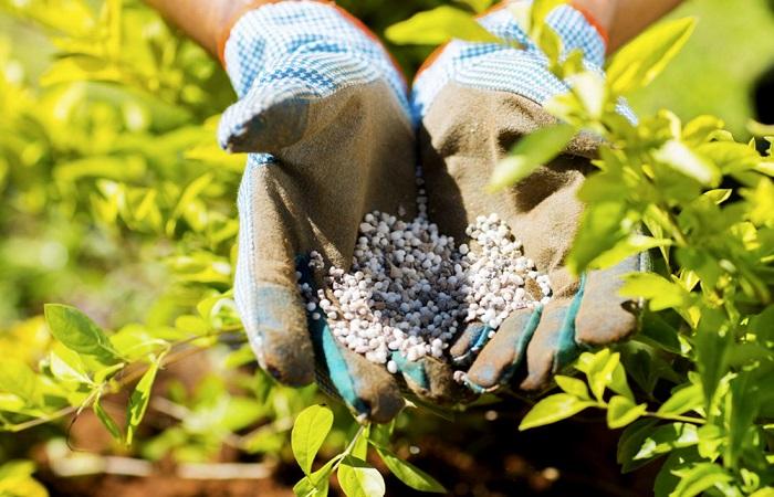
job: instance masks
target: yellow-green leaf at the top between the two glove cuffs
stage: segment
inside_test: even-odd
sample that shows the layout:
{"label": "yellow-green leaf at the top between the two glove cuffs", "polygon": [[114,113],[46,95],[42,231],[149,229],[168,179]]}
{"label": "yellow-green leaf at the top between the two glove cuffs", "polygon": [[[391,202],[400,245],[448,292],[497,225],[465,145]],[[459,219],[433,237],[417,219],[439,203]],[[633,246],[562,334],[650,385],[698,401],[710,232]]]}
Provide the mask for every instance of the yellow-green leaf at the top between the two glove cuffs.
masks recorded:
{"label": "yellow-green leaf at the top between the two glove cuffs", "polygon": [[419,12],[390,25],[385,36],[398,45],[439,45],[456,38],[470,42],[504,43],[464,10],[449,6]]}

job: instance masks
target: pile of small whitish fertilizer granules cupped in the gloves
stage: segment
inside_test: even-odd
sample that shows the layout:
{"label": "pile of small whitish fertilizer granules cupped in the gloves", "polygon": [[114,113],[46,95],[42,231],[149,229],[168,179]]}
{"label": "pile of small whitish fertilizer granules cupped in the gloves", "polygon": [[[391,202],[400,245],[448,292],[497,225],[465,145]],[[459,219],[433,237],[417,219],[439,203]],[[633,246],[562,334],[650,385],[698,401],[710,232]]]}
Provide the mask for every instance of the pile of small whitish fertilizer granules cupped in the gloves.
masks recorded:
{"label": "pile of small whitish fertilizer granules cupped in the gloves", "polygon": [[[326,288],[316,292],[300,284],[313,319],[324,316],[342,343],[386,363],[391,373],[398,369],[390,360],[396,350],[409,361],[441,358],[463,324],[480,321],[496,330],[514,310],[545,303],[551,295],[548,277],[535,271],[495,214],[468,226],[472,246],[457,246],[428,220],[422,180],[417,181],[416,219],[366,214],[349,272],[330,267]],[[318,253],[312,252],[310,267],[324,269]],[[525,290],[530,279],[540,288],[538,299]]]}

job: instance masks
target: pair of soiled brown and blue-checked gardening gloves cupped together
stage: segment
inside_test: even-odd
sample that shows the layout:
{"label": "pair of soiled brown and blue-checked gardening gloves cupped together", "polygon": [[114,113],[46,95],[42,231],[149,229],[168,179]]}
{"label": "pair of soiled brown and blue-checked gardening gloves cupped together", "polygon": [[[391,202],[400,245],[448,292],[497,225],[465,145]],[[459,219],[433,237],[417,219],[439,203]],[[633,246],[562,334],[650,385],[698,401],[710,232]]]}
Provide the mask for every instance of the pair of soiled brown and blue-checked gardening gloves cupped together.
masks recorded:
{"label": "pair of soiled brown and blue-checked gardening gloves cupped together", "polygon": [[[583,210],[576,191],[597,142],[577,138],[519,184],[487,192],[514,142],[553,123],[542,104],[567,85],[546,70],[508,9],[479,22],[523,47],[452,41],[426,64],[410,97],[377,39],[327,2],[258,2],[223,46],[239,101],[223,114],[219,140],[249,152],[238,200],[239,313],[262,368],[290,385],[316,374],[360,420],[391,420],[406,396],[453,404],[501,388],[540,390],[584,348],[618,341],[637,326],[617,289],[638,260],[579,279],[564,265]],[[586,64],[602,65],[605,42],[582,12],[562,6],[547,22],[565,51],[580,49]],[[307,316],[296,271],[318,284],[306,264],[312,251],[348,268],[367,212],[412,218],[417,165],[441,232],[463,243],[468,223],[496,213],[548,274],[553,299],[514,313],[489,342],[490,329],[470,324],[449,360],[394,357],[393,376],[339,343],[324,317]],[[458,369],[462,383],[452,379]]]}

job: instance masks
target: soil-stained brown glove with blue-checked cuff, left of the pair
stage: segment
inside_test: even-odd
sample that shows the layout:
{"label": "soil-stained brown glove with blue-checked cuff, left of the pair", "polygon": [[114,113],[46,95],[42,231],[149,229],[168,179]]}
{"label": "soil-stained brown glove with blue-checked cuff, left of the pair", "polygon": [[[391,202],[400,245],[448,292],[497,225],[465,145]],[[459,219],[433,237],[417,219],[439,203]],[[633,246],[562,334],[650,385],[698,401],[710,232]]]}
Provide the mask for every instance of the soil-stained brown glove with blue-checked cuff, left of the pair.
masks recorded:
{"label": "soil-stained brown glove with blue-checked cuff, left of the pair", "polygon": [[[414,213],[405,82],[376,39],[336,7],[254,7],[223,44],[239,101],[218,131],[227,150],[250,152],[238,199],[239,314],[260,366],[279,381],[303,385],[316,369],[358,419],[387,422],[404,406],[396,377],[338,342],[324,316],[312,319],[297,285],[322,281],[311,251],[349,267],[365,213]],[[450,367],[429,358],[414,366],[420,372],[401,383],[446,399]]]}

